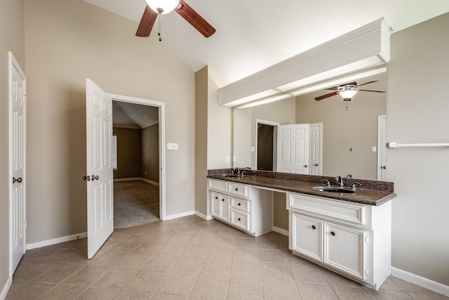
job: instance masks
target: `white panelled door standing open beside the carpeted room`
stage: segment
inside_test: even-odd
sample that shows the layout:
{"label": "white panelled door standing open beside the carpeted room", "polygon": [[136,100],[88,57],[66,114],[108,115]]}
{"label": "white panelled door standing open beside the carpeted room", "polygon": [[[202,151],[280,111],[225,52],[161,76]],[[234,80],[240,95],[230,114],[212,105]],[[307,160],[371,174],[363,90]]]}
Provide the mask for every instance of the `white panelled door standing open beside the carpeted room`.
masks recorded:
{"label": "white panelled door standing open beside the carpeted room", "polygon": [[88,259],[114,231],[112,98],[86,79]]}

